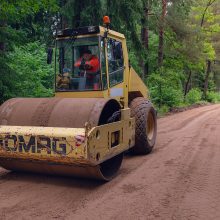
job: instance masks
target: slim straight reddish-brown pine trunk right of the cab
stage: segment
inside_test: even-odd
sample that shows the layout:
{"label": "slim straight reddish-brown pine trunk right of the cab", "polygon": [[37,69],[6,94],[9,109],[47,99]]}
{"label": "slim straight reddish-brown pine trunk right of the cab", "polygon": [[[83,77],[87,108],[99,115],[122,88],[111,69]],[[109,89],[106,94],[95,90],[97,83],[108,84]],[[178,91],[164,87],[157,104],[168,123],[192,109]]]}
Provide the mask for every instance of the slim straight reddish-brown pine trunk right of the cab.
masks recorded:
{"label": "slim straight reddish-brown pine trunk right of the cab", "polygon": [[162,0],[162,14],[160,19],[159,29],[159,47],[158,47],[158,66],[163,65],[163,54],[164,54],[164,22],[167,11],[167,0]]}

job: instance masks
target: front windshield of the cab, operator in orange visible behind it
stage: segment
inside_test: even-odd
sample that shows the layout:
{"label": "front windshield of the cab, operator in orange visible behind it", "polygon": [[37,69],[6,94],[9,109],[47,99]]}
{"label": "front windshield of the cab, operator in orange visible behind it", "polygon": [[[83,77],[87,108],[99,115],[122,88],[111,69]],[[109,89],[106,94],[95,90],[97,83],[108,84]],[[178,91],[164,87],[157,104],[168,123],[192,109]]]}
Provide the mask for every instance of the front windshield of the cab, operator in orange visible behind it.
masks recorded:
{"label": "front windshield of the cab, operator in orange visible behind it", "polygon": [[68,38],[57,41],[56,91],[101,89],[99,38]]}

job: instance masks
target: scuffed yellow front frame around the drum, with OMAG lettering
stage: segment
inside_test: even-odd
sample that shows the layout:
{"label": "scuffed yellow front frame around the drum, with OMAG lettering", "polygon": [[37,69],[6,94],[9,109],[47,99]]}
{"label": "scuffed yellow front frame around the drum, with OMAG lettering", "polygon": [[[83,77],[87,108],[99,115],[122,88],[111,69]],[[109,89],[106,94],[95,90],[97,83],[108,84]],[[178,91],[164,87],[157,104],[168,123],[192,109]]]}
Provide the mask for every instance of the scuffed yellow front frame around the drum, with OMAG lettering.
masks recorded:
{"label": "scuffed yellow front frame around the drum, with OMAG lettering", "polygon": [[96,166],[134,145],[134,119],[93,128],[0,126],[0,155]]}

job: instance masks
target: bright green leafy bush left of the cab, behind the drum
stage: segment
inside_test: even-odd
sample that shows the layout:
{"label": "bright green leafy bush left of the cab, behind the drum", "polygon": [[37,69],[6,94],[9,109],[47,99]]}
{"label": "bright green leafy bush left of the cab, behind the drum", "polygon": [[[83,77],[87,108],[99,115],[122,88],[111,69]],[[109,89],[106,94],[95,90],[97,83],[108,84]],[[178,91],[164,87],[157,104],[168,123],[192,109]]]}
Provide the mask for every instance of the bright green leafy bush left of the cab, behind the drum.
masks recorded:
{"label": "bright green leafy bush left of the cab, behind the drum", "polygon": [[8,55],[9,67],[16,71],[15,96],[47,97],[53,94],[53,68],[46,64],[45,45],[40,42],[15,47]]}

